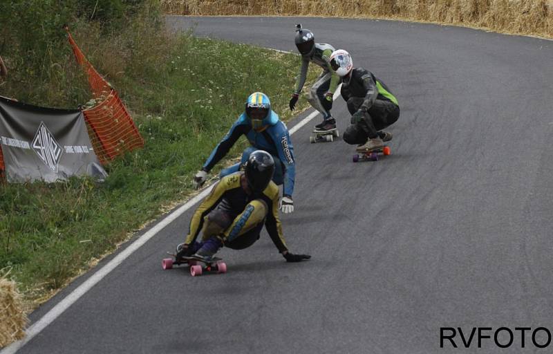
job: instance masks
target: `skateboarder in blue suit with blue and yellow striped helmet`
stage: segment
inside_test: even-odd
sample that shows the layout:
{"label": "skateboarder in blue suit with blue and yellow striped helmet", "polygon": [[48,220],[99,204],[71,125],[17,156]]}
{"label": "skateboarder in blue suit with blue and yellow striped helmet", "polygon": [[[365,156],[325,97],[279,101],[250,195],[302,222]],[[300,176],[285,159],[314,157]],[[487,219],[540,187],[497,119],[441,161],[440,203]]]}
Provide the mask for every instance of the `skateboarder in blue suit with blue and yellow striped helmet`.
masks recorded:
{"label": "skateboarder in blue suit with blue and yellow striped helmet", "polygon": [[245,135],[251,147],[242,153],[241,162],[221,171],[221,177],[238,171],[245,164],[250,153],[263,150],[270,153],[275,162],[275,172],[272,180],[277,185],[283,185],[283,197],[279,205],[283,213],[294,211],[294,179],[296,166],[294,162],[294,147],[285,124],[279,120],[279,115],[271,109],[271,102],[265,93],[256,92],[247,97],[245,111],[232,125],[229,132],[212,151],[202,169],[194,176],[196,188],[203,185],[207,173],[221,158],[225,157],[229,149],[240,136]]}

